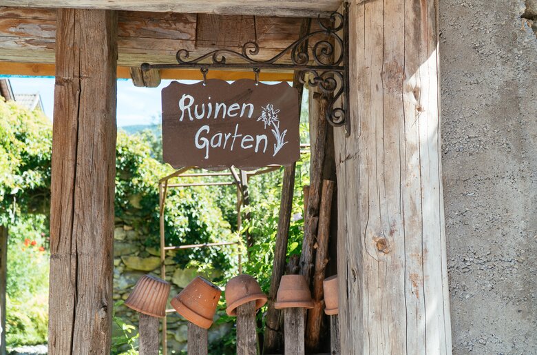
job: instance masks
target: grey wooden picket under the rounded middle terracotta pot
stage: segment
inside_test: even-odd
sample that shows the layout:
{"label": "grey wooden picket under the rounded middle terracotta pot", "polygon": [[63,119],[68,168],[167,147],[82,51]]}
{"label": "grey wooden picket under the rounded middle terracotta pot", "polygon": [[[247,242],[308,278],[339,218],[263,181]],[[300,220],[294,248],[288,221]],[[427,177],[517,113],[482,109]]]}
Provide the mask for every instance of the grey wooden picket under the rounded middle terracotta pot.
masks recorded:
{"label": "grey wooden picket under the rounded middle terracotta pot", "polygon": [[255,301],[237,307],[237,355],[257,354]]}

